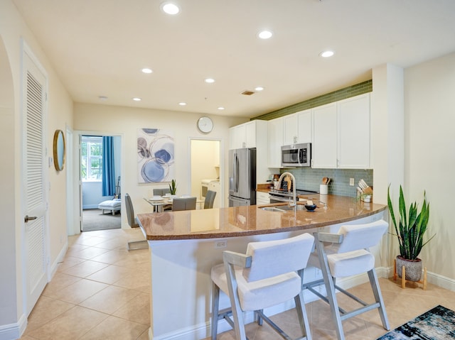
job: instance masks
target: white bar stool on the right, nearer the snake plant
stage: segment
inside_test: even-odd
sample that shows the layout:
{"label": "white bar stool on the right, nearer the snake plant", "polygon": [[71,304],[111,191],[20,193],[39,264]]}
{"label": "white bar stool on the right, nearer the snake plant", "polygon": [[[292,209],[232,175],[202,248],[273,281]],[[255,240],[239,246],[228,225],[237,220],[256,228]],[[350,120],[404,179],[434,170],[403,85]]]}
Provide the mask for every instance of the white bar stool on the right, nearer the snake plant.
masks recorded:
{"label": "white bar stool on the right, nearer the snake plant", "polygon": [[[382,327],[387,330],[390,329],[375,271],[375,256],[369,250],[370,247],[376,246],[381,241],[387,229],[387,222],[380,220],[369,224],[343,225],[338,234],[314,233],[316,253],[311,255],[309,263],[321,268],[323,279],[305,283],[303,289],[308,289],[323,301],[328,302],[338,340],[345,339],[342,324],[344,320],[372,309],[378,309]],[[363,273],[368,273],[375,300],[373,303],[360,300],[359,297],[336,285],[337,278],[346,278]],[[320,285],[326,287],[326,295],[322,295],[315,289]],[[355,300],[362,307],[350,311],[343,309],[338,304],[336,290]]]}

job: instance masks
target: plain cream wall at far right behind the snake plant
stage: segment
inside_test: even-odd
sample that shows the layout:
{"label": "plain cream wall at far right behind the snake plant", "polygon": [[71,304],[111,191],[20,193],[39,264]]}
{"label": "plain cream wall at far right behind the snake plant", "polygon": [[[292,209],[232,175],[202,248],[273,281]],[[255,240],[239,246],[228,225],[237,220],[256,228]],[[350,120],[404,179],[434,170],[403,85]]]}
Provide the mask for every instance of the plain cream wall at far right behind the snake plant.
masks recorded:
{"label": "plain cream wall at far right behind the snake plant", "polygon": [[455,280],[454,90],[455,53],[405,70],[405,196],[422,207],[423,193],[427,191],[429,235],[436,236],[424,246],[420,257],[429,271],[452,280]]}

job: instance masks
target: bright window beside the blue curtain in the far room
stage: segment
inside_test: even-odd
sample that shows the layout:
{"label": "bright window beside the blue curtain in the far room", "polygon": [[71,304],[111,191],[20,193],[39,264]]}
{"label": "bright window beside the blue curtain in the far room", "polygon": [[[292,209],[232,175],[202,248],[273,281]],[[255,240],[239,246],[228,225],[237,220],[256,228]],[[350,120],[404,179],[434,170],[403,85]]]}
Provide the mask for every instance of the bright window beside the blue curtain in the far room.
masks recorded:
{"label": "bright window beside the blue curtain in the far room", "polygon": [[102,137],[82,136],[80,147],[80,175],[82,180],[102,180]]}

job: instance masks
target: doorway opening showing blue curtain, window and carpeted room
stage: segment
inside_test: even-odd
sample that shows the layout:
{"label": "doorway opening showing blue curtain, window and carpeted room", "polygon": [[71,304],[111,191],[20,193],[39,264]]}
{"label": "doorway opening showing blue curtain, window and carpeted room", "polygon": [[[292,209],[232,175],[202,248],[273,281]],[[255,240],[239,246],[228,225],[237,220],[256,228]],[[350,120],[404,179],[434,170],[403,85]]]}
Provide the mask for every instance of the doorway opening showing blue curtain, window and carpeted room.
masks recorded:
{"label": "doorway opening showing blue curtain, window and carpeted room", "polygon": [[122,228],[120,136],[80,135],[80,231]]}

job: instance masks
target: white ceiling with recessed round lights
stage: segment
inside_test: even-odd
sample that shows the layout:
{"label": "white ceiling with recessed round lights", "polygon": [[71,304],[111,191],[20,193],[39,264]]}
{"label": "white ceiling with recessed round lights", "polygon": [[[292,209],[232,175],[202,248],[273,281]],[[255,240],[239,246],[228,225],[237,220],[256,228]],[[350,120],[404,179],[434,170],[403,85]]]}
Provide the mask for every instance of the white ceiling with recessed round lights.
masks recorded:
{"label": "white ceiling with recessed round lights", "polygon": [[13,2],[83,103],[254,117],[455,51],[454,0]]}

